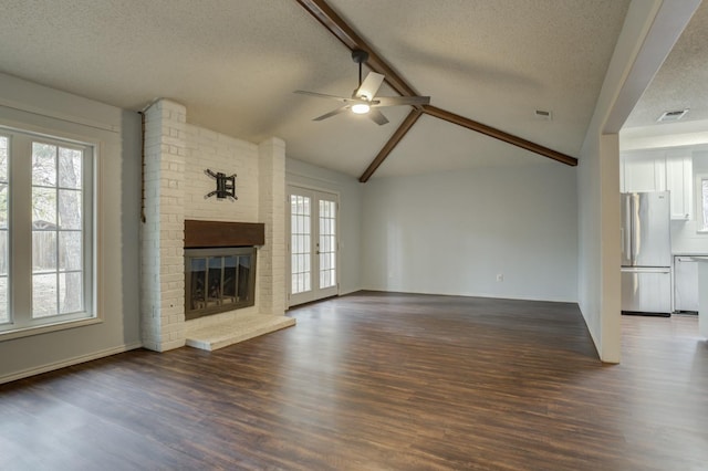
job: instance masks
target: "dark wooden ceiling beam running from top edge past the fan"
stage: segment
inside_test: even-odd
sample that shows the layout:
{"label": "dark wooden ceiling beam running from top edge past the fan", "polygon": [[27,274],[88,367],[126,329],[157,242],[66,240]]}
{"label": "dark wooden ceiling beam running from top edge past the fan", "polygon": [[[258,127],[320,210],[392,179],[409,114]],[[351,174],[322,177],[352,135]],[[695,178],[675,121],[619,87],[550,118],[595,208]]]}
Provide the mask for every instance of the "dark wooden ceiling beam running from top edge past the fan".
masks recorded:
{"label": "dark wooden ceiling beam running from top edge past the fan", "polygon": [[415,96],[418,93],[384,61],[356,31],[342,19],[324,0],[296,0],[324,28],[334,34],[350,50],[361,49],[368,53],[366,65],[386,78],[386,83],[402,96]]}

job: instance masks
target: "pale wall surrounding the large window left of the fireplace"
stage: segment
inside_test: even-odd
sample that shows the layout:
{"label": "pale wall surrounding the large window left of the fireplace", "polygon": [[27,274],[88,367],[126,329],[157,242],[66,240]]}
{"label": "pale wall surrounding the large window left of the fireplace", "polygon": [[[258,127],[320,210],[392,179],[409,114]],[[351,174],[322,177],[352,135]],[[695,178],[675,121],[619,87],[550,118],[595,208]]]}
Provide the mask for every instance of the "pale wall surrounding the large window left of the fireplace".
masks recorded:
{"label": "pale wall surrounding the large window left of the fireplace", "polygon": [[0,123],[101,143],[96,213],[103,316],[98,324],[1,341],[0,383],[138,347],[139,115],[0,74]]}

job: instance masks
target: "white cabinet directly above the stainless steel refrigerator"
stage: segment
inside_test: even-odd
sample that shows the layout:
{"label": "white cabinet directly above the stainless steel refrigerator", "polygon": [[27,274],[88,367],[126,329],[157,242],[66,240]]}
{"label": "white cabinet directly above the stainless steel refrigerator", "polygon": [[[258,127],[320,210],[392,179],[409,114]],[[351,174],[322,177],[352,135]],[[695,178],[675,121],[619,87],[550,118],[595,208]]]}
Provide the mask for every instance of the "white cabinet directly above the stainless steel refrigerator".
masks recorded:
{"label": "white cabinet directly above the stainless steel refrigerator", "polygon": [[623,154],[621,191],[666,191],[666,153]]}

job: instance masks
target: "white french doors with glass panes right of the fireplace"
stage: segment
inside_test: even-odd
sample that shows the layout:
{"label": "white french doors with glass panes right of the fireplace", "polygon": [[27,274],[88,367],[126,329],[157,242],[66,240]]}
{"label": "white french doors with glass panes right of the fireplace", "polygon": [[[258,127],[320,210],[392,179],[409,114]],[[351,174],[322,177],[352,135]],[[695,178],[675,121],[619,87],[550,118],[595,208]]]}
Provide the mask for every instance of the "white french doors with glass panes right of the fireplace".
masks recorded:
{"label": "white french doors with glass panes right of the fireplace", "polygon": [[308,303],[339,293],[337,196],[288,187],[290,210],[289,305]]}

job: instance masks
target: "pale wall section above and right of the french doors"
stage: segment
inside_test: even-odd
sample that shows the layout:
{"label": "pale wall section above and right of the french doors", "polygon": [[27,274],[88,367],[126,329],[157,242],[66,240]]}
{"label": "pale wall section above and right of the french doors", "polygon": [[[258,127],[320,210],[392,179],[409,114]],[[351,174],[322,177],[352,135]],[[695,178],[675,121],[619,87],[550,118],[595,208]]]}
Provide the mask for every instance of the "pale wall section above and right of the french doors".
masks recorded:
{"label": "pale wall section above and right of the french doors", "polygon": [[340,294],[361,290],[361,199],[365,186],[354,177],[293,158],[285,160],[285,184],[339,195]]}

